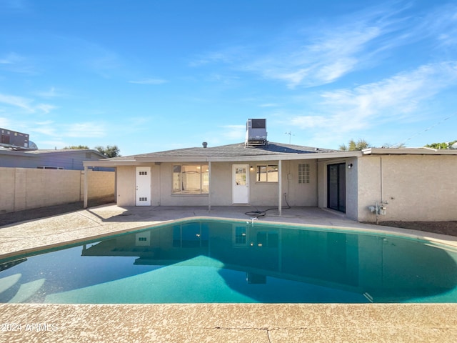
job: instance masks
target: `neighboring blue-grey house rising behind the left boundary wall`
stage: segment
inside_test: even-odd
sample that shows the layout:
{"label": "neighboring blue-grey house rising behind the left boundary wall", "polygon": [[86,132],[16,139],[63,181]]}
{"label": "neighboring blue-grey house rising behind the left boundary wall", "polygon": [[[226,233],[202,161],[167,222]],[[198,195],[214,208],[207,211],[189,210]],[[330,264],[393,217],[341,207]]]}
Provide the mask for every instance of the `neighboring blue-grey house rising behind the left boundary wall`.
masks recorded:
{"label": "neighboring blue-grey house rising behind the left boundary wall", "polygon": [[[106,159],[91,149],[7,149],[0,147],[0,167],[83,170],[83,161]],[[95,169],[112,171],[113,169]]]}

